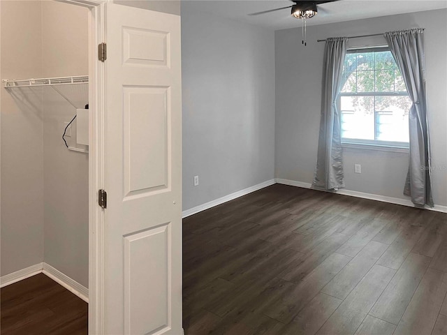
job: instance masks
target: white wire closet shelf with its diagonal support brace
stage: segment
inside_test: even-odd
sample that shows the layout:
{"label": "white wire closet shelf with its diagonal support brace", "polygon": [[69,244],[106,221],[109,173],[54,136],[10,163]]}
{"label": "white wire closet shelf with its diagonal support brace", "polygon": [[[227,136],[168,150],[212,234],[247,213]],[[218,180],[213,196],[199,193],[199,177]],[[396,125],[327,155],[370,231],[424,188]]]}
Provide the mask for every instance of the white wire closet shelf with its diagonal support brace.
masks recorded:
{"label": "white wire closet shelf with its diagonal support brace", "polygon": [[[48,86],[52,87],[54,91],[57,91],[62,98],[64,98],[70,105],[75,107],[75,109],[81,108],[81,106],[77,105],[77,103],[73,103],[73,100],[78,101],[79,99],[68,98],[68,94],[65,94],[62,90],[63,85],[79,85],[79,84],[89,84],[89,76],[88,75],[78,75],[73,77],[52,77],[52,78],[38,78],[38,79],[3,79],[1,80],[4,83],[4,87],[6,89],[13,89],[18,87],[43,87]],[[59,89],[57,88],[59,87]],[[79,92],[78,92],[79,93]],[[84,94],[81,94],[82,96]],[[88,101],[88,90],[87,90],[87,98],[82,98],[84,101]],[[74,119],[73,119],[74,120]],[[72,121],[73,121],[72,120]],[[67,146],[68,150],[83,152],[88,154],[87,149],[80,149],[76,147]]]}

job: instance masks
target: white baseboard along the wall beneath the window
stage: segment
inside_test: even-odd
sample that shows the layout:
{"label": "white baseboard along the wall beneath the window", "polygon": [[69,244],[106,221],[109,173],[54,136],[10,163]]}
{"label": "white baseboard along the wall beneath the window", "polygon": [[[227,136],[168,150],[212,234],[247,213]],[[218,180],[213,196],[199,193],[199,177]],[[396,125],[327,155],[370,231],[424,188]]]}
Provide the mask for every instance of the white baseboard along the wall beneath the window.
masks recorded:
{"label": "white baseboard along the wall beneath the window", "polygon": [[[295,180],[288,180],[288,179],[281,179],[281,178],[277,178],[275,180],[278,184],[298,186],[298,187],[302,187],[302,188],[311,188],[311,186],[312,186],[312,184],[303,183],[302,181],[295,181]],[[323,190],[318,190],[318,188],[314,188],[314,189],[316,191],[323,191]],[[334,193],[342,194],[342,195],[349,195],[351,197],[377,200],[377,201],[381,201],[381,202],[388,202],[390,204],[402,204],[403,206],[416,207],[413,204],[413,202],[411,202],[411,200],[387,197],[386,195],[351,191],[351,190],[346,190],[344,188],[339,189],[337,192],[334,192]],[[441,211],[442,213],[447,213],[447,206],[441,206],[440,204],[435,204],[433,208],[432,207],[424,207],[424,208],[429,209],[430,211]]]}

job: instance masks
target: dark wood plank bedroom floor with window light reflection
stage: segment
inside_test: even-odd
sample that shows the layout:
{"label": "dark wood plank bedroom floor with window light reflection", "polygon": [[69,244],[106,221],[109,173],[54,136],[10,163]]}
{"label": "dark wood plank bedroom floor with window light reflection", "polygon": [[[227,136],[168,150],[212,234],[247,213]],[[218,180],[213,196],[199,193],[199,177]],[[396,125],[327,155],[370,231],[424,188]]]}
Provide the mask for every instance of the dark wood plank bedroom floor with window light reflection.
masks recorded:
{"label": "dark wood plank bedroom floor with window light reflection", "polygon": [[183,223],[186,335],[447,334],[447,214],[276,184]]}

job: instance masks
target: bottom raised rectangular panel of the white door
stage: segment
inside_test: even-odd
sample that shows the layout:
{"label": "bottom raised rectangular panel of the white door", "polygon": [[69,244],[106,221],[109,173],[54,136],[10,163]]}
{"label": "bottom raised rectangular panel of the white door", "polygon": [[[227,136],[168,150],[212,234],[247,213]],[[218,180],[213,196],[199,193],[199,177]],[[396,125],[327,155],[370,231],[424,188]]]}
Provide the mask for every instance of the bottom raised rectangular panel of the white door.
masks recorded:
{"label": "bottom raised rectangular panel of the white door", "polygon": [[126,335],[154,334],[170,327],[169,230],[166,223],[124,237]]}

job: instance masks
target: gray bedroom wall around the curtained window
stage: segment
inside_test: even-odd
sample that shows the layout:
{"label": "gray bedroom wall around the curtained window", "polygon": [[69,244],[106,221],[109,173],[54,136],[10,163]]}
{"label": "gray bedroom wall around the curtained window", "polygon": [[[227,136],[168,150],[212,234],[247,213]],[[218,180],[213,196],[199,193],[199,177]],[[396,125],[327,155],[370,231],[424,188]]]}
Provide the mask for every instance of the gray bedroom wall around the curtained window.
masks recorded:
{"label": "gray bedroom wall around the curtained window", "polygon": [[[301,29],[275,32],[276,57],[276,177],[311,183],[316,164],[321,111],[324,43],[330,36],[380,34],[385,31],[425,27],[427,101],[432,140],[435,204],[447,205],[447,10],[409,13],[367,20],[324,24],[307,28],[307,47]],[[386,45],[379,37],[376,42]],[[372,39],[352,39],[351,46]],[[362,173],[354,174],[354,164]],[[386,151],[344,150],[346,189],[394,198],[402,194],[408,154]]]}

